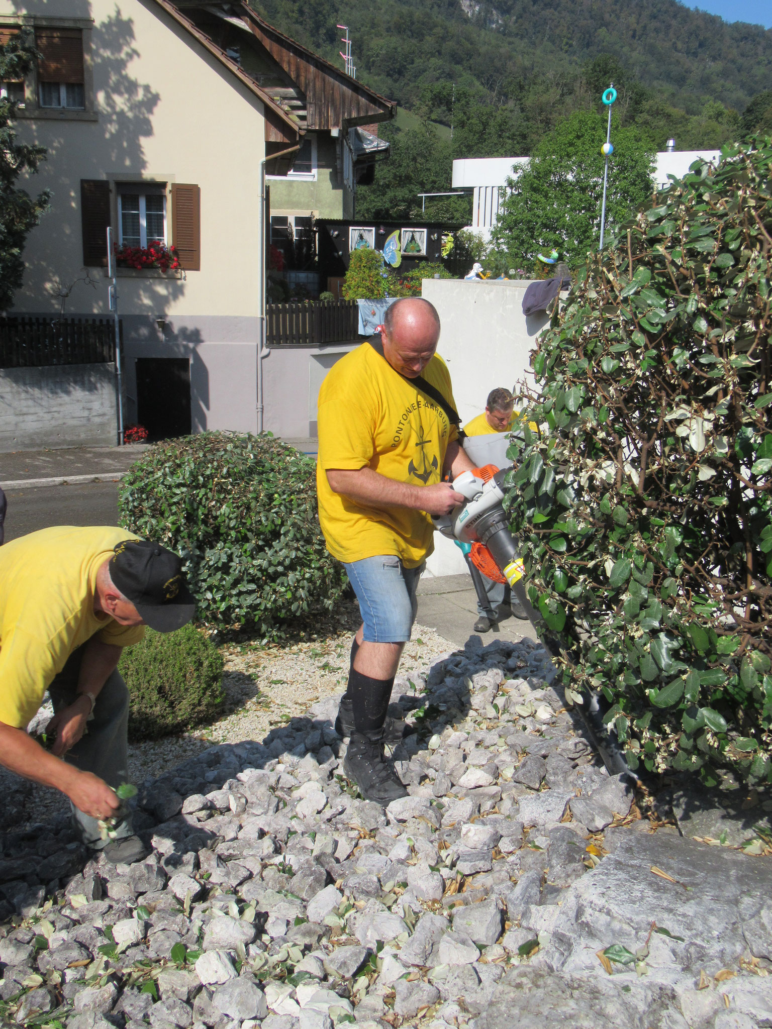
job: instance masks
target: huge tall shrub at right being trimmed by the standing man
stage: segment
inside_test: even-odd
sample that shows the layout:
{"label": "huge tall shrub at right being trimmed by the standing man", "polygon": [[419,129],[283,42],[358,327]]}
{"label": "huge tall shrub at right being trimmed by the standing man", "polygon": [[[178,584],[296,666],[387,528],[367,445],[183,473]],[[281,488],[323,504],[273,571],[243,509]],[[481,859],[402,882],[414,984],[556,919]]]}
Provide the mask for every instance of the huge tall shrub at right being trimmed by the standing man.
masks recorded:
{"label": "huge tall shrub at right being trimmed by the standing man", "polygon": [[772,754],[772,144],[695,166],[611,232],[539,340],[510,454],[529,594],[569,699],[628,762]]}

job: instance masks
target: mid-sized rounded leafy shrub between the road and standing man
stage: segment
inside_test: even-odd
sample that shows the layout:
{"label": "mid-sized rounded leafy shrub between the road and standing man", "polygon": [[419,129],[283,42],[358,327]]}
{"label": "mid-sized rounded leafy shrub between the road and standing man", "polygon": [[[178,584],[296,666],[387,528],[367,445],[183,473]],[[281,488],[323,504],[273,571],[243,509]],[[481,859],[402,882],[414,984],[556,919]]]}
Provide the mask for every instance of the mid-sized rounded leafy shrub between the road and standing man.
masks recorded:
{"label": "mid-sized rounded leafy shrub between the road and standing man", "polygon": [[176,551],[198,615],[278,639],[344,590],[316,507],[316,464],[273,436],[202,432],[159,443],[119,489],[120,524]]}

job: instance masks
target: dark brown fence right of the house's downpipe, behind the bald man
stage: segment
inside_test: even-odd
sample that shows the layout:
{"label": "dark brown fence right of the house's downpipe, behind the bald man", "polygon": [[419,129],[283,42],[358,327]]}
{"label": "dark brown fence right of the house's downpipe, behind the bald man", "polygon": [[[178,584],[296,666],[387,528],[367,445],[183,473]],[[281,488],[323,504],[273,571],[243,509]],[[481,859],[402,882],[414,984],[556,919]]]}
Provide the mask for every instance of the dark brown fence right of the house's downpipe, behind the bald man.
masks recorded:
{"label": "dark brown fence right of the house's downpipe, behind the bald man", "polygon": [[308,300],[266,307],[269,347],[318,347],[359,339],[356,300]]}

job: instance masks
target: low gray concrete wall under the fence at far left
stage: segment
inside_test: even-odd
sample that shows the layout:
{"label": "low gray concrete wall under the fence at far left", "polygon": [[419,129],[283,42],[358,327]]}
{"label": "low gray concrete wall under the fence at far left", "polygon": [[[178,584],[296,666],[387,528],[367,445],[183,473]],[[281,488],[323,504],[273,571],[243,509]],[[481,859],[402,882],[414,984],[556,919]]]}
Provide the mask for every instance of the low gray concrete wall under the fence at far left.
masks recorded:
{"label": "low gray concrete wall under the fence at far left", "polygon": [[0,453],[116,441],[115,366],[0,368]]}

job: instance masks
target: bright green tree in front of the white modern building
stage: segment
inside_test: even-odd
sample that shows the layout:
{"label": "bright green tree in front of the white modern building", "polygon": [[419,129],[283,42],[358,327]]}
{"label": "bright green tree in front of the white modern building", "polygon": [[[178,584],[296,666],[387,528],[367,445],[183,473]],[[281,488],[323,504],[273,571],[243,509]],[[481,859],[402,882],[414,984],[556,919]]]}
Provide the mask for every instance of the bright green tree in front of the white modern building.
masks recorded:
{"label": "bright green tree in front of the white modern building", "polygon": [[[584,260],[600,237],[605,119],[575,111],[536,148],[501,205],[494,244],[513,267],[556,249],[569,263]],[[635,129],[615,126],[608,163],[606,223],[627,218],[652,192],[654,154]]]}

